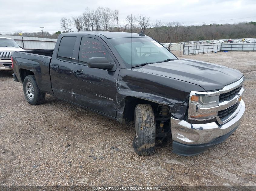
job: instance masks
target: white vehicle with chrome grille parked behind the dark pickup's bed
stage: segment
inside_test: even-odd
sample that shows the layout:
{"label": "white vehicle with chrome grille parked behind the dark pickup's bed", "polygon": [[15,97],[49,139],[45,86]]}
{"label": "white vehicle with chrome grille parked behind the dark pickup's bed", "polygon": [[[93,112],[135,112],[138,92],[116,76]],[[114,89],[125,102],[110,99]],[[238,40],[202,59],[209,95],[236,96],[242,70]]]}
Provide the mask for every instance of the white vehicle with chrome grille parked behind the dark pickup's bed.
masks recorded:
{"label": "white vehicle with chrome grille parked behind the dark pickup's bed", "polygon": [[12,70],[12,52],[21,50],[23,49],[15,42],[15,40],[0,37],[0,70]]}

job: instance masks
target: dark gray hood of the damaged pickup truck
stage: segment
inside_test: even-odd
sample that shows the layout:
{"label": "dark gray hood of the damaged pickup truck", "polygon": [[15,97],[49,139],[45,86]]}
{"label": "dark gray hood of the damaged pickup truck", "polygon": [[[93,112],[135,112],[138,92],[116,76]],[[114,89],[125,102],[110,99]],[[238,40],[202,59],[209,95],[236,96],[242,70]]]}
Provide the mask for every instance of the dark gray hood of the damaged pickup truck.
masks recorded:
{"label": "dark gray hood of the damaged pickup truck", "polygon": [[235,69],[191,59],[148,64],[136,70],[197,84],[205,91],[222,89],[243,76]]}

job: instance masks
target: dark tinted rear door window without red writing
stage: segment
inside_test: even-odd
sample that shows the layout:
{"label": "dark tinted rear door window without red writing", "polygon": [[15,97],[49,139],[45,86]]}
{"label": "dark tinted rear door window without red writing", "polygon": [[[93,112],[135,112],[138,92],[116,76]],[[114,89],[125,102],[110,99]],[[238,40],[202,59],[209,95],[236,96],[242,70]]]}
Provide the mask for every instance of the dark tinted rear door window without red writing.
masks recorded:
{"label": "dark tinted rear door window without red writing", "polygon": [[76,37],[62,37],[57,58],[72,61]]}

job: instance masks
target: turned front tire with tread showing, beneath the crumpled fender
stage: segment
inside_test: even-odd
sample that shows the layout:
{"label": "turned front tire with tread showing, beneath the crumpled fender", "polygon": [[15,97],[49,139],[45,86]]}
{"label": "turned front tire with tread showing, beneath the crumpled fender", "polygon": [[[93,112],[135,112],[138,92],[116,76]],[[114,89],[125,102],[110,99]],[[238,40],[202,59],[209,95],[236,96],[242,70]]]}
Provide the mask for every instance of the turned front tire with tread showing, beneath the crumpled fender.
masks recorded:
{"label": "turned front tire with tread showing, beneath the crumpled fender", "polygon": [[133,148],[138,155],[149,156],[155,151],[155,115],[151,105],[138,104],[134,111],[136,135]]}

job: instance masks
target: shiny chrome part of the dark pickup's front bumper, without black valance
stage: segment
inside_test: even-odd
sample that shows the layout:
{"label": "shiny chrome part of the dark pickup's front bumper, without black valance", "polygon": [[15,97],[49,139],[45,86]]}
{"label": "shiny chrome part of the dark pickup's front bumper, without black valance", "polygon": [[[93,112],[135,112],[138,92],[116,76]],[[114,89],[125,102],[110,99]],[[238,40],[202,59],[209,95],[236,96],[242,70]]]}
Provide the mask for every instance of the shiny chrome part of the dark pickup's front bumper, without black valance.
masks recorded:
{"label": "shiny chrome part of the dark pickup's front bumper, without black valance", "polygon": [[218,137],[226,135],[236,129],[244,115],[245,105],[241,100],[236,116],[224,124],[216,122],[205,124],[192,124],[184,120],[171,117],[171,136],[173,141],[185,145],[201,145],[214,142]]}

